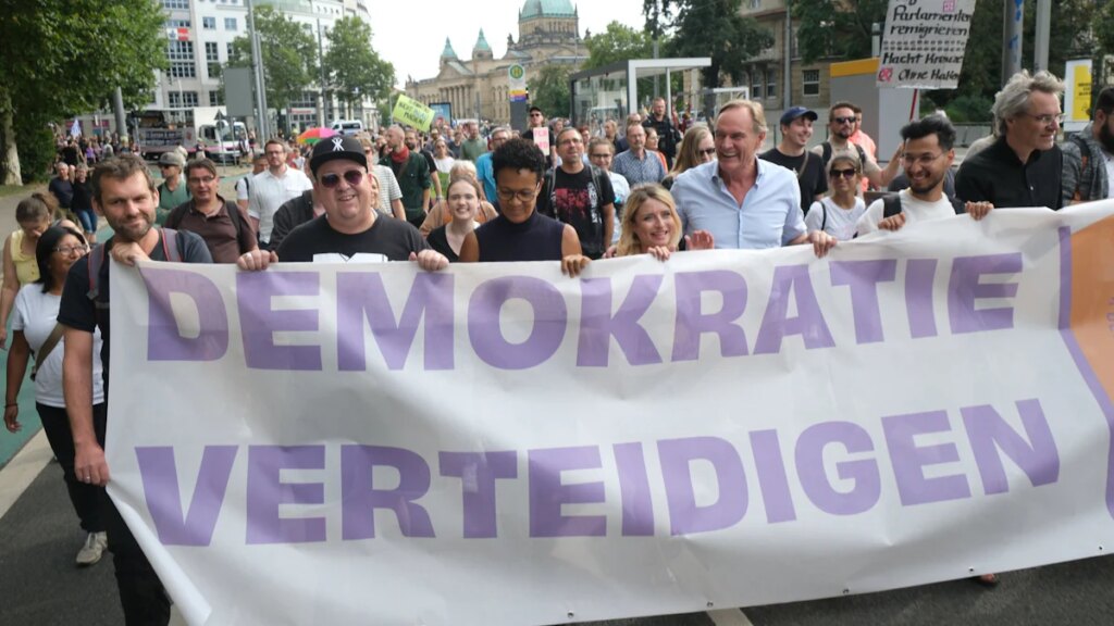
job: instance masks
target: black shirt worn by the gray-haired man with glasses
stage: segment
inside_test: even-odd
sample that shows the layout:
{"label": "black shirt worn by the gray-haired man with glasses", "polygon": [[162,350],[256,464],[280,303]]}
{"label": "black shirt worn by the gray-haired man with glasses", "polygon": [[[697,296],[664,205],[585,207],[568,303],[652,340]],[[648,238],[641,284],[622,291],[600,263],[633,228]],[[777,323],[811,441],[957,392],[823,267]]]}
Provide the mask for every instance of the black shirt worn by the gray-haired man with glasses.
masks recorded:
{"label": "black shirt worn by the gray-haired man with glasses", "polygon": [[1001,208],[1063,204],[1064,155],[1059,146],[1033,150],[1027,163],[1017,158],[1005,137],[964,159],[956,174],[956,195],[964,202],[990,202]]}

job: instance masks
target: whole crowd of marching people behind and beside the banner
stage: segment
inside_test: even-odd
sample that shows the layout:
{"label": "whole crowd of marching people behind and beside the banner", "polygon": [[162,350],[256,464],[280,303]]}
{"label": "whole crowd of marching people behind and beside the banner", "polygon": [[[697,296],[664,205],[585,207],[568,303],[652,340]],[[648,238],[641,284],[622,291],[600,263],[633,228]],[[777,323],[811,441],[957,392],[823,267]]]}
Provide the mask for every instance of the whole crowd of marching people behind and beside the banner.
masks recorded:
{"label": "whole crowd of marching people behind and beside the banner", "polygon": [[[645,119],[634,114],[598,136],[547,125],[535,107],[525,130],[496,127],[486,139],[476,124],[428,134],[391,126],[312,146],[275,138],[254,155],[235,197],[222,195],[207,158],[167,153],[156,180],[138,156],[106,154],[110,144],[70,158],[82,149],[70,141],[49,192],[20,203],[19,229],[3,246],[0,326],[12,329],[0,334],[11,340],[4,422],[20,428],[17,395],[33,354],[36,407],[87,532],[77,563],[110,549],[128,623],[165,624],[158,577],[102,489],[108,257],[243,271],[335,255],[430,272],[539,261],[577,276],[597,260],[667,262],[713,247],[808,245],[823,256],[874,231],[1108,198],[1114,88],[1102,91],[1083,131],[1057,143],[1063,89],[1048,72],[1014,76],[994,104],[994,137],[958,168],[956,130],[939,114],[905,125],[881,165],[853,102],[825,111],[828,139],[814,146],[821,114],[786,109],[781,140],[765,151],[765,111],[749,100],[725,104],[711,125],[683,127],[658,98]],[[90,248],[98,215],[113,236]]]}

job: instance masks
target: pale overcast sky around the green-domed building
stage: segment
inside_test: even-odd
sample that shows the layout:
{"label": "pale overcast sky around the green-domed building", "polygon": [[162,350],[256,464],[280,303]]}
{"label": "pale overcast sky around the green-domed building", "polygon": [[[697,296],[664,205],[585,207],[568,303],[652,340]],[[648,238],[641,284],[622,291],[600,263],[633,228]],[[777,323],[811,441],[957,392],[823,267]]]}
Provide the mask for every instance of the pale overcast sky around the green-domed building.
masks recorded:
{"label": "pale overcast sky around the green-domed building", "polygon": [[[373,46],[379,56],[394,65],[394,78],[404,87],[414,80],[437,76],[444,38],[460,59],[472,58],[480,28],[496,59],[507,52],[507,35],[518,41],[518,10],[526,0],[369,0]],[[642,0],[588,0],[576,2],[584,31],[600,32],[612,20],[641,29]],[[413,25],[403,28],[403,25]]]}

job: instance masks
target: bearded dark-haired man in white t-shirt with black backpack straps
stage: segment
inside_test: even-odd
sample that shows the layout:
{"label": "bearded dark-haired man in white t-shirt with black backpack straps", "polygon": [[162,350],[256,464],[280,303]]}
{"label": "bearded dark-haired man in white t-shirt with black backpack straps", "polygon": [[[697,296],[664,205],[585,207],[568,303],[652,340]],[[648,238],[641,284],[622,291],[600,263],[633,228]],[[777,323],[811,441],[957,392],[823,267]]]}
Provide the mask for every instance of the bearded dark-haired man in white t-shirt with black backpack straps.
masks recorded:
{"label": "bearded dark-haired man in white t-shirt with black backpack straps", "polygon": [[856,229],[859,235],[876,229],[897,231],[906,223],[941,219],[968,213],[981,219],[993,205],[987,202],[960,203],[944,193],[944,174],[956,159],[952,146],[956,129],[944,116],[930,115],[901,128],[905,139],[902,163],[909,188],[897,196],[874,200],[862,214]]}

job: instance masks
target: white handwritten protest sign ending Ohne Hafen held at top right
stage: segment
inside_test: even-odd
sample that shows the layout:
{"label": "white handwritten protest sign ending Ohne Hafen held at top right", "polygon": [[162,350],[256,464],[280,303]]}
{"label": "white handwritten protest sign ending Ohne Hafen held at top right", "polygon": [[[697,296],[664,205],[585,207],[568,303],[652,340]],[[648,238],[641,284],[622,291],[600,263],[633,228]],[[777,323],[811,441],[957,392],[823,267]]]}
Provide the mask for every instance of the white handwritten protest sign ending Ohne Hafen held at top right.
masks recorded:
{"label": "white handwritten protest sign ending Ohne Hafen held at top right", "polygon": [[974,14],[975,0],[890,0],[878,86],[955,89]]}

